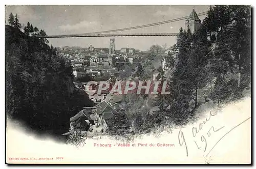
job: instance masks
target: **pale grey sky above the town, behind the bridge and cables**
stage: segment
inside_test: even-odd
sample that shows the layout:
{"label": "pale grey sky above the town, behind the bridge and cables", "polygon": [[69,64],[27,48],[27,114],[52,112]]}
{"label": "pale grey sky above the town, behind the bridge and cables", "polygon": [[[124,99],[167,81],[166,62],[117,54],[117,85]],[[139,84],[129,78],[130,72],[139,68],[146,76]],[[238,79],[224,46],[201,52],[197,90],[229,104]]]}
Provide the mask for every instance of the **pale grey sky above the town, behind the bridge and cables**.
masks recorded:
{"label": "pale grey sky above the town, behind the bridge and cables", "polygon": [[[6,21],[12,12],[19,15],[19,22],[26,25],[29,21],[47,35],[82,34],[98,31],[122,29],[188,16],[193,8],[197,13],[205,12],[209,6],[6,6]],[[204,16],[199,16],[203,20]],[[117,33],[178,33],[184,28],[185,20],[166,23]],[[110,38],[49,38],[55,47],[80,46],[108,48]],[[171,46],[176,43],[175,36],[161,37],[114,37],[115,49],[133,47],[147,50],[153,44]]]}

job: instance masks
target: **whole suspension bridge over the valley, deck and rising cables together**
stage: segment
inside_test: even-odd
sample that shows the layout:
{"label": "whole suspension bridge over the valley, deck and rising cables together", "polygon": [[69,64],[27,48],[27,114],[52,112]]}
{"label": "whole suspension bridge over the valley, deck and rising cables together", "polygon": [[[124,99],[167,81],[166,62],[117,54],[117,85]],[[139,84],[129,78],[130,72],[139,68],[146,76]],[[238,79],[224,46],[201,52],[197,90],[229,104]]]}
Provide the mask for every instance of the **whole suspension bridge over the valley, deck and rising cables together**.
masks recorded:
{"label": "whole suspension bridge over the valley, deck and rising cables together", "polygon": [[[206,14],[207,14],[207,11],[198,13],[197,15],[202,16]],[[116,33],[116,32],[143,29],[145,27],[162,25],[162,24],[172,23],[172,22],[176,22],[184,19],[189,19],[190,17],[191,15],[172,19],[172,20],[157,22],[157,23],[126,27],[123,29],[116,29],[116,30],[109,30],[109,31],[91,32],[91,33],[84,33],[84,34],[70,34],[70,35],[46,35],[46,36],[38,36],[38,38],[178,36],[178,33]]]}

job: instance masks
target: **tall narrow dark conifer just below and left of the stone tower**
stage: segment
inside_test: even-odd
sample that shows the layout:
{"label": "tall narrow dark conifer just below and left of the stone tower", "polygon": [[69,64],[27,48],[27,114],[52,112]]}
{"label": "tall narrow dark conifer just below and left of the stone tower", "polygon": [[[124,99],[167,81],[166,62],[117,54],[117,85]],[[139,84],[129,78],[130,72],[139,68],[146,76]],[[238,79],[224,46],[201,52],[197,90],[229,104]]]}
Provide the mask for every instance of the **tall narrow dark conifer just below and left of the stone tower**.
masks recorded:
{"label": "tall narrow dark conifer just below and left of the stone tower", "polygon": [[183,117],[188,114],[188,102],[193,99],[193,84],[191,83],[191,70],[188,63],[191,48],[191,34],[188,35],[182,27],[177,39],[176,67],[170,80],[170,103],[176,113]]}

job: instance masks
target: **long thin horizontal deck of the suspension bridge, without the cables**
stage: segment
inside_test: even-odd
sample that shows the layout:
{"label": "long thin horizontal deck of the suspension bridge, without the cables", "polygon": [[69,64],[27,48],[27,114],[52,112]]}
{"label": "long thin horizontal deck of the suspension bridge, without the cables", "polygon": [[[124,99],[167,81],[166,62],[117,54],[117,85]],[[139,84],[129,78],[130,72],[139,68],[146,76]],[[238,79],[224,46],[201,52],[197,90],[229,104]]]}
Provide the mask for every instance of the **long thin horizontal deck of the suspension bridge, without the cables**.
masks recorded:
{"label": "long thin horizontal deck of the suspension bridge, without the cables", "polygon": [[135,34],[84,34],[84,35],[49,35],[38,38],[78,38],[78,37],[119,37],[119,36],[177,36],[177,33],[135,33]]}

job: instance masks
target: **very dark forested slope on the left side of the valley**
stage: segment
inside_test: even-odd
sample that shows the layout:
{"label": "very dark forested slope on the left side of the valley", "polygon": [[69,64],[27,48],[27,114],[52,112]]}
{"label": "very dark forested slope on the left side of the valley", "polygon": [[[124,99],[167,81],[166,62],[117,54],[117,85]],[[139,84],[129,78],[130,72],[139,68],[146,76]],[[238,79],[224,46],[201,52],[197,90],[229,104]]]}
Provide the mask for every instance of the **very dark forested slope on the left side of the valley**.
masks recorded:
{"label": "very dark forested slope on the left side of the valley", "polygon": [[69,129],[78,106],[91,106],[74,90],[71,64],[48,45],[44,30],[28,22],[24,33],[11,13],[6,31],[6,117],[36,131]]}

